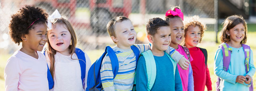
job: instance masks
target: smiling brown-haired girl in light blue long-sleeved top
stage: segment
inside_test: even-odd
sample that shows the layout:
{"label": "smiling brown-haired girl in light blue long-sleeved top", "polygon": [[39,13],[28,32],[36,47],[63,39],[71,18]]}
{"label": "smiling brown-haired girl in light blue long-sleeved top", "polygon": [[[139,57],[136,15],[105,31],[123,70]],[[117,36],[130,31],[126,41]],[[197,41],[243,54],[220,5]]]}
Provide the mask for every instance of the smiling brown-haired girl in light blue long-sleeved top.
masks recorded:
{"label": "smiling brown-haired girl in light blue long-sleeved top", "polygon": [[[242,44],[247,40],[247,24],[242,16],[229,16],[223,22],[220,40],[232,48],[228,70],[223,70],[223,53],[221,47],[215,53],[214,74],[220,78],[220,91],[249,91],[255,73],[253,53],[250,49],[249,71],[246,73],[245,54]],[[227,61],[227,60],[224,60]]]}

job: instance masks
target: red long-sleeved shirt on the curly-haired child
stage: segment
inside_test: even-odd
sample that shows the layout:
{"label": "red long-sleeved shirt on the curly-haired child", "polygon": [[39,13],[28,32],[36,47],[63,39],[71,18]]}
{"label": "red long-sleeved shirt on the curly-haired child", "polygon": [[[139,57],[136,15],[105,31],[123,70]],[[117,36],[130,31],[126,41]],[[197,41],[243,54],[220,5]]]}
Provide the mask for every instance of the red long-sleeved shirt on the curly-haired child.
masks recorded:
{"label": "red long-sleeved shirt on the curly-haired child", "polygon": [[198,47],[188,48],[190,55],[194,59],[191,61],[194,77],[194,90],[204,91],[206,85],[207,90],[212,90],[212,81],[208,67],[204,64],[204,54]]}

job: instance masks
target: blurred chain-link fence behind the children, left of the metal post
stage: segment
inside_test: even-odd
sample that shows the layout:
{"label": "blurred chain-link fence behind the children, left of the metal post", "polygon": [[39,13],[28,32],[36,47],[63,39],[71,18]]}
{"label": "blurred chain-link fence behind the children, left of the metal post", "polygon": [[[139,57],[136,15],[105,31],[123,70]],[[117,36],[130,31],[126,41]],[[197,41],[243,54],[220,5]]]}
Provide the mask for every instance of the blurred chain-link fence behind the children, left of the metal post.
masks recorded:
{"label": "blurred chain-link fence behind the children, left of the metal post", "polygon": [[[135,27],[145,31],[149,18],[161,17],[172,6],[180,6],[185,16],[198,15],[213,30],[213,0],[0,0],[0,49],[14,52],[14,44],[8,35],[11,15],[25,5],[45,9],[49,15],[56,9],[68,17],[76,30],[79,47],[84,50],[102,49],[114,44],[106,31],[108,21],[116,16],[129,17]],[[210,21],[210,22],[209,22]],[[141,43],[141,41],[137,41]],[[19,46],[18,46],[19,47]]]}

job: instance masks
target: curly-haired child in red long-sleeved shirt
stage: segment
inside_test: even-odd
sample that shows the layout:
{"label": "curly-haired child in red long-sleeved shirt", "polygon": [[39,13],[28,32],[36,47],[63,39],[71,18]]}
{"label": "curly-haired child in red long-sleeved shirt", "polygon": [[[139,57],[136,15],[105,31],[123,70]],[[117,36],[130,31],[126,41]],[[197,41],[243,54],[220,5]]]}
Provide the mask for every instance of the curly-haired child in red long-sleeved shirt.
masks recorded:
{"label": "curly-haired child in red long-sleeved shirt", "polygon": [[197,21],[198,19],[198,16],[190,17],[187,22],[184,23],[184,46],[188,47],[190,55],[193,58],[191,66],[194,77],[194,90],[204,91],[206,85],[207,90],[211,91],[212,81],[207,67],[207,51],[204,48],[196,47],[198,43],[201,43],[204,31],[206,30],[206,26]]}

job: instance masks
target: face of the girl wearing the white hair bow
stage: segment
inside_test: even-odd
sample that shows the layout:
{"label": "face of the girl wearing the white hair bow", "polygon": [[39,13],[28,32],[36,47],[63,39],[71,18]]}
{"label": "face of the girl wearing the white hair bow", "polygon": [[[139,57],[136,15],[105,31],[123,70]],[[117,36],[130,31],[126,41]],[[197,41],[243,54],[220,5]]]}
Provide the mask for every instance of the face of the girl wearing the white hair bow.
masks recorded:
{"label": "face of the girl wearing the white hair bow", "polygon": [[66,25],[56,24],[52,26],[52,30],[48,31],[48,39],[52,48],[63,55],[70,55],[69,48],[71,42],[71,34]]}

